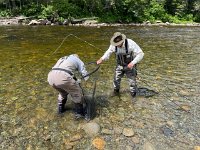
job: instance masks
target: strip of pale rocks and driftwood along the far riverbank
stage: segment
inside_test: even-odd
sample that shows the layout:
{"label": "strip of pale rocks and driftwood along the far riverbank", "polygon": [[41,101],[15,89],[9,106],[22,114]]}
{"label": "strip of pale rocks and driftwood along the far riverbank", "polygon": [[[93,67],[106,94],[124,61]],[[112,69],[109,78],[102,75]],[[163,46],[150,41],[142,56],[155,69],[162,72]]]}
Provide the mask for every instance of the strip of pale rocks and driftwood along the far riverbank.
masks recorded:
{"label": "strip of pale rocks and driftwood along the far riverbank", "polygon": [[8,25],[68,25],[68,26],[121,26],[121,25],[134,25],[134,26],[200,26],[200,23],[186,23],[186,24],[175,24],[169,22],[161,22],[157,21],[152,24],[149,21],[144,23],[99,23],[96,18],[82,18],[82,19],[65,19],[63,22],[55,21],[55,20],[47,20],[47,19],[34,19],[31,17],[13,17],[13,18],[0,18],[0,26],[8,26]]}

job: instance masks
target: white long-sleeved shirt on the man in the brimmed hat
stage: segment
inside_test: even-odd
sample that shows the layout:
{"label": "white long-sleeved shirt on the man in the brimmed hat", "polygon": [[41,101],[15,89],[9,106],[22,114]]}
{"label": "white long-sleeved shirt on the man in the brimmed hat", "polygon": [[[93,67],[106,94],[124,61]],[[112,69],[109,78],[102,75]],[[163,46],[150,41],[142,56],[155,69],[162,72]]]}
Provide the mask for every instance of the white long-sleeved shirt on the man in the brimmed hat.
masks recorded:
{"label": "white long-sleeved shirt on the man in the brimmed hat", "polygon": [[[128,42],[128,52],[133,52],[134,54],[134,59],[132,61],[132,63],[135,65],[137,64],[139,61],[142,60],[144,53],[142,51],[142,49],[131,39],[127,39]],[[104,53],[104,55],[101,57],[102,60],[108,60],[111,56],[112,53],[115,52],[115,46],[110,45],[108,50]],[[117,54],[119,53],[126,53],[126,48],[125,48],[125,42],[123,43],[122,47],[117,47]]]}

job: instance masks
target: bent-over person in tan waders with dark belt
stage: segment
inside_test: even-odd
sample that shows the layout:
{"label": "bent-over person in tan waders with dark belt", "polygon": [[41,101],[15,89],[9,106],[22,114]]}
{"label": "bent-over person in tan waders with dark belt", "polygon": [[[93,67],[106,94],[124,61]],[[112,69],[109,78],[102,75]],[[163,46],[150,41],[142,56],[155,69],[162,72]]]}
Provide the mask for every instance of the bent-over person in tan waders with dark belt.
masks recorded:
{"label": "bent-over person in tan waders with dark belt", "polygon": [[[65,111],[65,103],[68,94],[71,95],[75,106],[75,118],[81,118],[85,115],[83,108],[84,98],[82,89],[76,81],[74,71],[78,71],[85,76],[87,74],[84,63],[79,59],[77,54],[72,54],[60,58],[48,74],[49,84],[59,92],[58,95],[58,113]],[[88,76],[85,80],[88,80]]]}

